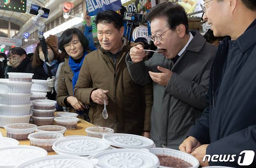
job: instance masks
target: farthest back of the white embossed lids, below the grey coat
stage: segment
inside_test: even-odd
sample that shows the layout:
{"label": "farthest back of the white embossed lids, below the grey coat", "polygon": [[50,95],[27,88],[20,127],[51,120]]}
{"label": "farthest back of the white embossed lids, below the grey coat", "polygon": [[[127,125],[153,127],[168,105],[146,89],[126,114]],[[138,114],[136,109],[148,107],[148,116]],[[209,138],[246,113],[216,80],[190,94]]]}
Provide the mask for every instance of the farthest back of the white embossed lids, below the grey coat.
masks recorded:
{"label": "farthest back of the white embossed lids, below the grey coat", "polygon": [[103,134],[102,140],[107,144],[121,148],[149,149],[154,146],[153,140],[149,138],[126,133]]}

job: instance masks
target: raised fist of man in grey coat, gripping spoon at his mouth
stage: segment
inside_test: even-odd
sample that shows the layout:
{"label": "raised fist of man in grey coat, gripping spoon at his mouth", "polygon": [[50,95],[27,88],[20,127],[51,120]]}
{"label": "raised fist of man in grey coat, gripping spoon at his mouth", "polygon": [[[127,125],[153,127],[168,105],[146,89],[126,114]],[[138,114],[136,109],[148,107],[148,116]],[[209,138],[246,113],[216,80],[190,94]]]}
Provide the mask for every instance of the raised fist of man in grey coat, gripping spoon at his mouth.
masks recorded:
{"label": "raised fist of man in grey coat, gripping spoon at his mouth", "polygon": [[141,62],[146,57],[146,52],[143,50],[143,45],[138,44],[130,49],[132,62]]}

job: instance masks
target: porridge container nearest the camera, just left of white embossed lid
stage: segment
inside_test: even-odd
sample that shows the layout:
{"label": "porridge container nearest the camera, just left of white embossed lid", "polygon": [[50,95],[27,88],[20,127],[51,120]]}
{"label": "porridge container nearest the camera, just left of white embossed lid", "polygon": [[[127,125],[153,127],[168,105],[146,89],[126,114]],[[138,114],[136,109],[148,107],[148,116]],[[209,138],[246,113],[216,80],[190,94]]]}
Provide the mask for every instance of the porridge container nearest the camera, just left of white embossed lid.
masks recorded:
{"label": "porridge container nearest the camera, just left of white embossed lid", "polygon": [[64,137],[64,135],[61,133],[49,132],[49,131],[35,132],[35,133],[30,133],[28,135],[28,139],[30,140],[30,145],[41,147],[45,149],[47,152],[53,151],[53,148],[52,148],[53,143],[62,137]]}

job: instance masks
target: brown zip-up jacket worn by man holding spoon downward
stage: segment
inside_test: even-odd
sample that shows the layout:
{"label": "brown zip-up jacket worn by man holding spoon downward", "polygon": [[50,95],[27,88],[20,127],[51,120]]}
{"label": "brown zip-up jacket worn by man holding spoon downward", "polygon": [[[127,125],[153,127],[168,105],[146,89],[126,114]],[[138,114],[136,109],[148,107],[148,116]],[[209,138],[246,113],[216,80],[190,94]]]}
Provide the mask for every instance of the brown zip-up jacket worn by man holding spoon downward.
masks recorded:
{"label": "brown zip-up jacket worn by man holding spoon downward", "polygon": [[[94,125],[112,128],[116,133],[141,135],[150,130],[153,89],[152,84],[141,87],[130,77],[125,56],[131,46],[126,43],[125,39],[116,64],[100,46],[86,55],[75,85],[75,97],[82,103],[94,105],[89,111]],[[90,100],[91,92],[97,88],[109,90],[106,120],[102,117],[103,105]]]}

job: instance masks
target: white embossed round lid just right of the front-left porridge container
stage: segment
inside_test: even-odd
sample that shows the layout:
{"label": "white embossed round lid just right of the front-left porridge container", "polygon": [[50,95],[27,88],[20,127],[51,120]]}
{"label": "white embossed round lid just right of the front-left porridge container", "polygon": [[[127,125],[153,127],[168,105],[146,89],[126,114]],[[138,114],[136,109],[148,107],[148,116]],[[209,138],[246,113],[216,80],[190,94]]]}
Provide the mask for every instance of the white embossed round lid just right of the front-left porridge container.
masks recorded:
{"label": "white embossed round lid just right of the front-left porridge container", "polygon": [[102,139],[93,137],[69,137],[57,140],[53,144],[56,153],[64,153],[77,156],[89,156],[110,148]]}

